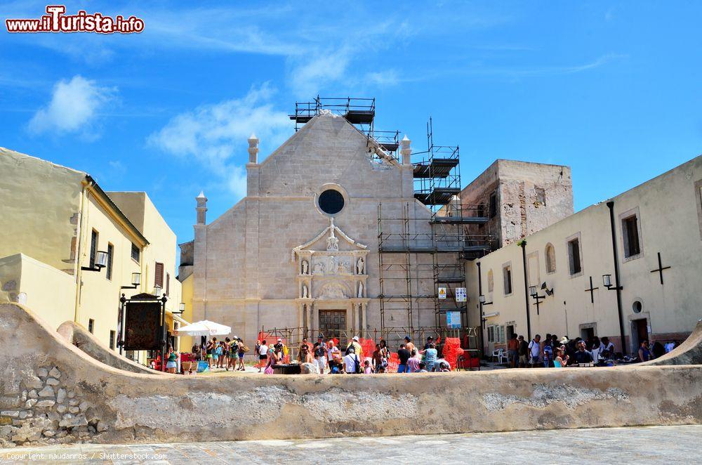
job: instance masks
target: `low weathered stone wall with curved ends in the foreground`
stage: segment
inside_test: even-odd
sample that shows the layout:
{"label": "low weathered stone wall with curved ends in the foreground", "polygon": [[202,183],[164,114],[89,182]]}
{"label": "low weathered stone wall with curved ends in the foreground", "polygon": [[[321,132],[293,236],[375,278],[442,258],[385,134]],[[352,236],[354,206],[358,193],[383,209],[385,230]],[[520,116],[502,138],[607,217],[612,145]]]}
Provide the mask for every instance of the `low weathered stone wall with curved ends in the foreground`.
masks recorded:
{"label": "low weathered stone wall with curved ends in the foreground", "polygon": [[[696,424],[702,366],[378,376],[125,372],[0,305],[0,446]],[[22,341],[22,343],[7,343]]]}

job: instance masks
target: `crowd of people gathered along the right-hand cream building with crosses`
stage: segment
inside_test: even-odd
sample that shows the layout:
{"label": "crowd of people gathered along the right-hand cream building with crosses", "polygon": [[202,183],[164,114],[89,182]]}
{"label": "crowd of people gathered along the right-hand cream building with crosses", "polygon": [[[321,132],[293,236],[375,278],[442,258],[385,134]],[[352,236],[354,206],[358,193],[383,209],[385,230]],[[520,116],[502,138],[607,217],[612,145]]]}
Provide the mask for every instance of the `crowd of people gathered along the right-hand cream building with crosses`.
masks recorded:
{"label": "crowd of people gathered along the right-hand cream building with crosses", "polygon": [[545,339],[541,339],[540,334],[536,334],[534,339],[524,340],[524,336],[512,334],[507,343],[508,363],[511,368],[522,367],[555,367],[562,368],[568,365],[598,365],[613,366],[615,360],[622,358],[627,362],[639,361],[647,362],[654,358],[661,357],[675,348],[674,342],[666,343],[665,346],[656,341],[652,348],[649,348],[649,341],[641,341],[636,358],[624,358],[616,353],[614,343],[609,338],[602,339],[597,336],[588,341],[577,337],[568,339],[567,336],[558,338],[555,334],[546,334]]}

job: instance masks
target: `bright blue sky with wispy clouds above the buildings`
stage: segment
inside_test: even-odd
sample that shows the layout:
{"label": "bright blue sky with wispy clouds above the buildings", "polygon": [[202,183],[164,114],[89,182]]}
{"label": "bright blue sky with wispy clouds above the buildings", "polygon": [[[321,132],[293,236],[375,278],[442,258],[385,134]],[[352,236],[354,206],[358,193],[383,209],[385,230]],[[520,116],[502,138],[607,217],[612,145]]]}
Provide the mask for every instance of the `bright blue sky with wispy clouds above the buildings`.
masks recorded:
{"label": "bright blue sky with wispy clouds above the buildings", "polygon": [[[374,96],[376,129],[460,145],[463,184],[496,158],[571,166],[576,210],[699,155],[702,3],[85,2],[131,35],[0,39],[0,145],[148,192],[178,241],[245,185],[296,100]],[[5,18],[46,4],[4,2]]]}

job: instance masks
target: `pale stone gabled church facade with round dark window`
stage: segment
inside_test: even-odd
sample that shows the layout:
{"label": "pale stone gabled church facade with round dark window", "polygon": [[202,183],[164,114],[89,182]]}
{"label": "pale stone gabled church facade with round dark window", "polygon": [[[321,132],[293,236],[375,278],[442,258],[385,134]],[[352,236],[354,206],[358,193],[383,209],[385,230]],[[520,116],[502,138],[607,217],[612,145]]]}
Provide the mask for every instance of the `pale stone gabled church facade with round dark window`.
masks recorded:
{"label": "pale stone gabled church facade with round dark window", "polygon": [[[414,218],[431,216],[413,196],[409,144],[402,140],[401,160],[385,155],[373,138],[330,112],[261,163],[251,136],[246,197],[211,223],[206,197],[197,197],[194,241],[181,244],[187,265],[180,279],[184,289],[192,286],[186,302],[192,313],[185,316],[231,326],[246,341],[261,329],[329,337],[380,328],[378,205],[388,215],[409,209]],[[428,221],[414,223],[418,232],[430,228]],[[419,294],[433,294],[433,282],[420,286],[426,289]],[[386,285],[385,292],[402,290]],[[402,326],[406,312],[388,318]],[[435,325],[433,312],[413,318],[415,326]]]}

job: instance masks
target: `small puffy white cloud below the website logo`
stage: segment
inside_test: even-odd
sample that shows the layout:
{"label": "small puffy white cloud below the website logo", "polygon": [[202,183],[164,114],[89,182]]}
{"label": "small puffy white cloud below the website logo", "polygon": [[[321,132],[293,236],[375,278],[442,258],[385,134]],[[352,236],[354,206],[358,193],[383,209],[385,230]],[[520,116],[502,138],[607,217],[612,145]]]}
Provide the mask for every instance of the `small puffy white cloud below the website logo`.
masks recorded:
{"label": "small puffy white cloud below the website logo", "polygon": [[29,121],[34,133],[81,133],[94,138],[102,105],[114,99],[117,89],[101,87],[79,75],[61,80],[53,87],[51,102]]}

